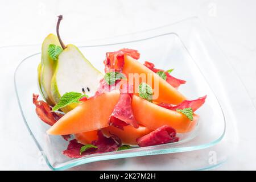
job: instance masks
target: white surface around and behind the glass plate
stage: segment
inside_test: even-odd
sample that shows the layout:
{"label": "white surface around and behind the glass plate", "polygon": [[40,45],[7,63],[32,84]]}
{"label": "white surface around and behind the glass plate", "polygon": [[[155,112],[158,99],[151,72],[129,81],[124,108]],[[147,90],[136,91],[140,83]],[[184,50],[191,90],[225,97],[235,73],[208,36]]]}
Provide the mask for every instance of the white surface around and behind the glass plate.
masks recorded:
{"label": "white surface around and behind the glass plate", "polygon": [[[243,81],[256,106],[256,2],[255,1],[0,1],[0,48],[40,44],[49,32],[55,32],[56,16],[63,14],[61,34],[65,42],[84,42],[163,26],[176,20],[198,16]],[[1,51],[1,50],[0,50]],[[32,53],[38,50],[31,50]],[[13,73],[20,56],[31,52],[0,55],[0,169],[49,169],[44,164],[22,120],[14,95]],[[3,52],[1,52],[3,53]],[[6,57],[6,56],[5,56]],[[234,83],[236,84],[236,83]],[[234,90],[235,92],[236,90]],[[6,111],[8,108],[8,111]],[[242,111],[241,111],[242,114]],[[247,121],[241,121],[246,123]],[[240,146],[236,155],[218,169],[256,169],[254,129],[239,123]],[[168,169],[154,158],[129,161],[126,169]],[[97,162],[85,169],[117,169]],[[168,163],[167,163],[168,164]],[[105,166],[104,166],[105,165]],[[76,169],[76,168],[75,168]]]}

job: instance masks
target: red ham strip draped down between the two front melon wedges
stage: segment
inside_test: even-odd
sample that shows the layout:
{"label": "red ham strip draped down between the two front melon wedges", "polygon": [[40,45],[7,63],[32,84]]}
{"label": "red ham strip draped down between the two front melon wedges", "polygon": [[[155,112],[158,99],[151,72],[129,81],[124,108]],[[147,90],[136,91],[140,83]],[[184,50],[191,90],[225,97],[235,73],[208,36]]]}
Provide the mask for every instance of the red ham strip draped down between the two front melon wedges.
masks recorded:
{"label": "red ham strip draped down between the two front melon wedges", "polygon": [[123,130],[123,126],[131,125],[135,128],[139,127],[135,120],[133,110],[131,109],[131,101],[133,98],[133,85],[123,84],[120,89],[120,97],[115,105],[113,113],[109,118],[109,125],[118,127]]}

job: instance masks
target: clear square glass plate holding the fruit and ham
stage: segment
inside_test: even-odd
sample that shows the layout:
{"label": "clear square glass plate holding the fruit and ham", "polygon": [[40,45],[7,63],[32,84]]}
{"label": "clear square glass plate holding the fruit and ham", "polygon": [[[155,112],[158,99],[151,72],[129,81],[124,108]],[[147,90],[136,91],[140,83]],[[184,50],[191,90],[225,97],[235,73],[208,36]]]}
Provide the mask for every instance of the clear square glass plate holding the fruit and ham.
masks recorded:
{"label": "clear square glass plate holding the fruit and ham", "polygon": [[[138,49],[141,62],[148,60],[155,63],[157,68],[175,68],[173,75],[187,81],[179,89],[187,98],[194,99],[207,94],[205,105],[196,111],[200,115],[196,130],[180,135],[181,140],[177,143],[95,154],[80,159],[67,158],[61,152],[67,148],[68,142],[59,136],[46,134],[49,126],[40,121],[32,104],[32,93],[39,93],[37,67],[40,53],[36,53],[24,59],[16,69],[15,89],[24,122],[50,168],[59,170],[107,159],[198,151],[216,145],[224,137],[225,119],[232,118],[233,111],[225,110],[229,107],[229,101],[220,77],[221,72],[216,68],[217,61],[220,61],[216,59],[223,56],[196,18],[135,34],[80,43],[79,48],[103,72],[102,60],[105,59],[105,53],[124,47]],[[229,138],[236,139],[233,137],[236,132],[231,135]],[[185,153],[181,154],[186,156]],[[198,165],[191,164],[189,169],[216,167],[225,159],[221,158],[213,164],[197,162]]]}

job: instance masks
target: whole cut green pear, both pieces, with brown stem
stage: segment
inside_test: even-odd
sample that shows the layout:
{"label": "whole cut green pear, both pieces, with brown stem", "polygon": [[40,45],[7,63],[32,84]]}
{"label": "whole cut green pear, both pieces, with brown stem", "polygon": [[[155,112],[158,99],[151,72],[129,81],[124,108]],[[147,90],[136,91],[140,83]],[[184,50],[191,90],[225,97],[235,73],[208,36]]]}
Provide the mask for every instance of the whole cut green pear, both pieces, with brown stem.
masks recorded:
{"label": "whole cut green pear, both pieces, with brown stem", "polygon": [[[59,35],[62,15],[58,16],[57,36],[49,34],[42,44],[42,61],[38,65],[38,86],[44,100],[55,106],[60,97],[67,92],[85,92],[93,96],[98,88],[98,81],[103,77],[92,64],[82,55],[79,49],[72,44],[65,46]],[[57,55],[57,60],[51,59],[48,53],[50,44],[60,46],[63,51]],[[77,104],[71,104],[62,111],[67,113]]]}

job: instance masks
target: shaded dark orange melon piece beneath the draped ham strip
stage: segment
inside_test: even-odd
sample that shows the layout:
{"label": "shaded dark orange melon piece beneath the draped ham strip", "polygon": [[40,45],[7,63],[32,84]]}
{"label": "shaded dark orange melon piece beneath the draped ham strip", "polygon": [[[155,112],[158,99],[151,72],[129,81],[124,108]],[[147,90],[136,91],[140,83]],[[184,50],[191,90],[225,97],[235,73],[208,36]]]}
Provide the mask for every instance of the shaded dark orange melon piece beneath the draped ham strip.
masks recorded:
{"label": "shaded dark orange melon piece beneath the draped ham strip", "polygon": [[123,127],[123,130],[120,130],[114,126],[109,126],[109,127],[105,127],[104,129],[101,129],[101,131],[107,137],[110,137],[111,135],[116,135],[118,138],[122,140],[123,144],[136,146],[137,145],[136,139],[149,134],[152,130],[142,125],[140,125],[138,129],[135,129],[131,125],[127,125]]}

